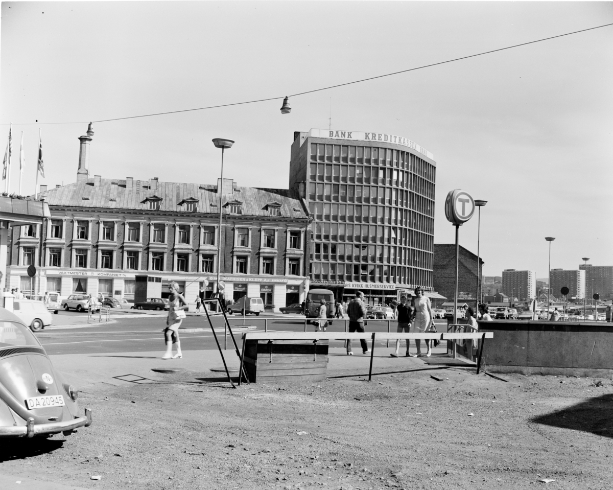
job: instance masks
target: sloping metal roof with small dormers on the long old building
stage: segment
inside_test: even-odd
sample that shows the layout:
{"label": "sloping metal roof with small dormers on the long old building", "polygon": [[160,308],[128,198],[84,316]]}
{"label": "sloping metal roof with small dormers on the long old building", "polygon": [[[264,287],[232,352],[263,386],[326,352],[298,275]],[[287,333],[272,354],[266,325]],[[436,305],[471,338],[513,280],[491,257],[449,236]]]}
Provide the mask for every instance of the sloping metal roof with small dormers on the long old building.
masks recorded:
{"label": "sloping metal roof with small dormers on the long old building", "polygon": [[[49,189],[39,194],[39,197],[44,197],[45,202],[52,207],[140,211],[149,210],[148,199],[161,199],[159,211],[162,212],[185,212],[181,203],[197,199],[197,213],[219,213],[216,185],[179,182],[157,182],[156,185],[151,182],[153,189],[150,189],[148,180],[134,180],[131,188],[126,186],[126,182],[129,185],[129,180],[101,178],[99,185],[94,185],[94,179],[88,178]],[[231,201],[242,203],[242,214],[245,216],[270,216],[268,205],[276,202],[281,206],[281,216],[308,217],[302,199],[297,192],[288,189],[234,186],[232,192],[223,194],[224,205]]]}

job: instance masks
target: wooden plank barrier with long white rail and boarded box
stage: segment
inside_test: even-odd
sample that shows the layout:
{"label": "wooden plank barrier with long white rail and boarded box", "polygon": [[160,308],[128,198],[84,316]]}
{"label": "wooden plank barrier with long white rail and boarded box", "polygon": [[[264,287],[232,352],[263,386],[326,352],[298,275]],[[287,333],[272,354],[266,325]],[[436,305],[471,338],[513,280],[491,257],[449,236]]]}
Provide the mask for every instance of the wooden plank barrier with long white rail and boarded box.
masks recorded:
{"label": "wooden plank barrier with long white rail and boarded box", "polygon": [[[370,339],[370,368],[368,381],[372,378],[376,340],[481,340],[477,374],[481,370],[481,356],[485,339],[493,339],[493,332],[245,332],[240,356],[240,370],[245,366],[248,380],[287,381],[324,380],[328,362],[330,340]],[[239,378],[238,384],[241,380]]]}

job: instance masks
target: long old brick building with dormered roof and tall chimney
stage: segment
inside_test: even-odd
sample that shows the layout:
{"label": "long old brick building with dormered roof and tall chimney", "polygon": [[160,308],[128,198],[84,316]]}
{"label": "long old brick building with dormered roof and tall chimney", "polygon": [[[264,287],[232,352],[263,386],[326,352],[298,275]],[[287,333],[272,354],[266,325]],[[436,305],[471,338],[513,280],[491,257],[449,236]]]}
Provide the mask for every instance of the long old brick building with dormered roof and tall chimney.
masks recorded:
{"label": "long old brick building with dormered roof and tall chimney", "polygon": [[[90,128],[91,129],[91,128]],[[268,309],[303,301],[308,212],[287,189],[88,177],[88,137],[81,137],[77,182],[44,189],[51,218],[14,228],[9,288],[134,299],[136,283],[177,281],[192,304],[217,291],[226,299],[262,297]],[[223,221],[219,228],[219,194]],[[218,255],[218,240],[221,254]],[[207,284],[208,281],[208,284]]]}

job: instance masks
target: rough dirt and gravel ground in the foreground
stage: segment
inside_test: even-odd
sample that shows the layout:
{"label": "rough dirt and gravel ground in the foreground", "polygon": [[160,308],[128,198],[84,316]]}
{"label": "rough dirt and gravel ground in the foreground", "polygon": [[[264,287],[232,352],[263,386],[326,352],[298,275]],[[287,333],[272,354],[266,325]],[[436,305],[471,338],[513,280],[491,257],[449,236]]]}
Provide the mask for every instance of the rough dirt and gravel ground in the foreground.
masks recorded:
{"label": "rough dirt and gravel ground in the foreground", "polygon": [[211,372],[99,385],[80,398],[91,427],[5,441],[0,472],[104,489],[613,488],[611,380],[344,374],[239,389]]}

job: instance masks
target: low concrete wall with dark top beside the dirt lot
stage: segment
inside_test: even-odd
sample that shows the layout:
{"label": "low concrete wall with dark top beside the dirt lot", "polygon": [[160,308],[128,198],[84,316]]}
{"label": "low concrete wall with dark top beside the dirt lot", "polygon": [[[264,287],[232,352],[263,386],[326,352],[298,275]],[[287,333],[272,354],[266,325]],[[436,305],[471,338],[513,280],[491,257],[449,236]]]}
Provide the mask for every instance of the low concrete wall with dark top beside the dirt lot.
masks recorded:
{"label": "low concrete wall with dark top beside the dirt lot", "polygon": [[611,323],[497,320],[479,329],[494,332],[483,351],[490,372],[613,375]]}

